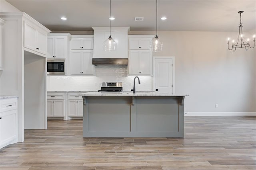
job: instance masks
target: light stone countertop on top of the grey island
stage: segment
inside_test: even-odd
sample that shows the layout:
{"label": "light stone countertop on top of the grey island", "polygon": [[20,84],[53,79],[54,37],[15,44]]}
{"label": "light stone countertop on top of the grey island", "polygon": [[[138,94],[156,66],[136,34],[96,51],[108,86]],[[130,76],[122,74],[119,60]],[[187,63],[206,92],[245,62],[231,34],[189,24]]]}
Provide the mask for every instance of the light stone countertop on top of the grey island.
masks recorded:
{"label": "light stone countertop on top of the grey island", "polygon": [[160,92],[87,92],[79,94],[81,96],[188,96],[188,94],[170,94]]}

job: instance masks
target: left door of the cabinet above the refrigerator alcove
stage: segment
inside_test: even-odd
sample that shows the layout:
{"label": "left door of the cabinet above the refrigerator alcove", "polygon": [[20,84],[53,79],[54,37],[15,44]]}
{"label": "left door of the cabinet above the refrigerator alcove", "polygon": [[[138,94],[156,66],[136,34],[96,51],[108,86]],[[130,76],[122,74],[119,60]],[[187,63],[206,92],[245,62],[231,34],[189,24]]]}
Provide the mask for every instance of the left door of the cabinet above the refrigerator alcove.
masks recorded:
{"label": "left door of the cabinet above the refrigerator alcove", "polygon": [[37,51],[36,29],[24,22],[24,47]]}

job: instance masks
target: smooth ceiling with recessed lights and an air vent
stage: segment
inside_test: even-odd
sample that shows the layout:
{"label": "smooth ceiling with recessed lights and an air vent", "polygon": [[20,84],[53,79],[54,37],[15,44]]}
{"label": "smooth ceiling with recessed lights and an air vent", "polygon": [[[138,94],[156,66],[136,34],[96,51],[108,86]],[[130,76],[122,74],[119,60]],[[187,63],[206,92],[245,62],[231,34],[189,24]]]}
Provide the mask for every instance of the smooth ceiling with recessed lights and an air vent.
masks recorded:
{"label": "smooth ceiling with recessed lights and an air vent", "polygon": [[[6,0],[52,31],[92,31],[109,26],[109,0]],[[112,0],[111,26],[156,30],[156,0]],[[244,31],[256,29],[256,0],[158,0],[158,31]],[[62,16],[68,20],[60,20]],[[166,16],[167,20],[160,20]],[[144,21],[134,21],[144,17]]]}

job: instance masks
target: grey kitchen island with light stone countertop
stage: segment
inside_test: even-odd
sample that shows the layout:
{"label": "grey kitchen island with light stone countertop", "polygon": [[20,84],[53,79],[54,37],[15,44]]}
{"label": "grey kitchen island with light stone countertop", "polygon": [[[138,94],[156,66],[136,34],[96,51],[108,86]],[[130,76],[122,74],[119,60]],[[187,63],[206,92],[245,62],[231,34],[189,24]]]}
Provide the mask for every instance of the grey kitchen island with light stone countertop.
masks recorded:
{"label": "grey kitchen island with light stone countertop", "polygon": [[184,98],[159,92],[87,92],[84,137],[184,137]]}

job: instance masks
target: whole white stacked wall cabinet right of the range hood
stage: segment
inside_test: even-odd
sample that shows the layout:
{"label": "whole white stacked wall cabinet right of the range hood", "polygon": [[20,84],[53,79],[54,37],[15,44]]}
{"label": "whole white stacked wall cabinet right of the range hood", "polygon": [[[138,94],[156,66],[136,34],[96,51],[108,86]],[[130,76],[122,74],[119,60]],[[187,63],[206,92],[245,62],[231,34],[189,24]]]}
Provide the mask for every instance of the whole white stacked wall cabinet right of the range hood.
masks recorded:
{"label": "whole white stacked wall cabinet right of the range hood", "polygon": [[129,35],[128,75],[152,76],[152,51],[154,35]]}

